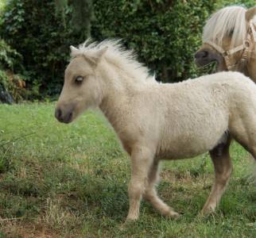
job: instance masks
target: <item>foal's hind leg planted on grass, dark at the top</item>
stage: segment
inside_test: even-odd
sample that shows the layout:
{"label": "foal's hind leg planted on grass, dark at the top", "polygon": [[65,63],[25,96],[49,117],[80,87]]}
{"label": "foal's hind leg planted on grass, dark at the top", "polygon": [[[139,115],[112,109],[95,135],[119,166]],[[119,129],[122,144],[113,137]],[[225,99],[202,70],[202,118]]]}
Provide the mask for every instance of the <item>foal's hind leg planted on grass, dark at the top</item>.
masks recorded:
{"label": "foal's hind leg planted on grass, dark at the top", "polygon": [[209,195],[207,202],[204,204],[202,213],[210,213],[214,211],[225,191],[232,171],[231,157],[229,155],[230,144],[231,139],[228,138],[226,143],[219,144],[210,152],[211,160],[215,168],[215,183],[211,188],[211,194]]}

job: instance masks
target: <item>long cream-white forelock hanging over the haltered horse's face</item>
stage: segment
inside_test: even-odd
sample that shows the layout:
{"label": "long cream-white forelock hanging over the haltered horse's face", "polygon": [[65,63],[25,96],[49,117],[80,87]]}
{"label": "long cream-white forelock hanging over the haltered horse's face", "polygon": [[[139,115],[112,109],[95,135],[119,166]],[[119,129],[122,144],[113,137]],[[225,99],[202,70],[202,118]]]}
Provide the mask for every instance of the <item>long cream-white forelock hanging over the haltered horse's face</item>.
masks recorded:
{"label": "long cream-white forelock hanging over the haltered horse's face", "polygon": [[[213,13],[204,26],[203,41],[223,45],[223,38],[232,34],[231,46],[238,46],[246,38],[246,8],[227,6]],[[255,22],[255,18],[254,18]]]}

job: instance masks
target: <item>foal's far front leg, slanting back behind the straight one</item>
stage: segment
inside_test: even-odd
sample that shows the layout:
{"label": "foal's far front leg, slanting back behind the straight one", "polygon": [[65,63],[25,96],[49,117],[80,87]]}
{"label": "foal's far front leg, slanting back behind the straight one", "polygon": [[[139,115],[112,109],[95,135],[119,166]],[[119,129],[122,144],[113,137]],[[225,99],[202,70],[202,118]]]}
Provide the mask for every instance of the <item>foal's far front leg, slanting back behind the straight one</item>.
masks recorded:
{"label": "foal's far front leg, slanting back behind the straight one", "polygon": [[169,207],[169,205],[165,204],[165,202],[163,202],[161,198],[157,196],[157,191],[155,188],[157,180],[158,180],[158,161],[154,161],[149,171],[148,183],[145,188],[144,198],[149,202],[151,202],[153,207],[159,210],[159,212],[162,215],[169,216],[169,217],[178,217],[179,213],[176,213],[175,211],[173,211],[173,209]]}

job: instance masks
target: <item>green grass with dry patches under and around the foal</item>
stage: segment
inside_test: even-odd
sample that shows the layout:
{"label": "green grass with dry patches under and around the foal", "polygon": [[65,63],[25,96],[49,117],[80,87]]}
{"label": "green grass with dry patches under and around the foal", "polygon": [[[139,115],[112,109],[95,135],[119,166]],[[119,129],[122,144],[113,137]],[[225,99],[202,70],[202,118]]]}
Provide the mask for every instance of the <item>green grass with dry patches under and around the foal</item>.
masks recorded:
{"label": "green grass with dry patches under and around the foal", "polygon": [[213,169],[208,155],[163,163],[170,220],[142,202],[127,211],[130,159],[100,113],[63,125],[53,104],[0,106],[0,237],[256,237],[254,163],[232,144],[234,172],[213,215],[200,217]]}

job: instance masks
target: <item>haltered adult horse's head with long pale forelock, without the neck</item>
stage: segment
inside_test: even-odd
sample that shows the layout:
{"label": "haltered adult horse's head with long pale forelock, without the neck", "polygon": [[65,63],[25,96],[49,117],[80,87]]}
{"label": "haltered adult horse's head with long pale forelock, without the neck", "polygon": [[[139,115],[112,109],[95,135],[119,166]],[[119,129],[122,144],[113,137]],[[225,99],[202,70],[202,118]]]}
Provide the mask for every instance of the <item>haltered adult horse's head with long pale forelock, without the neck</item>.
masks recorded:
{"label": "haltered adult horse's head with long pale forelock, without the neck", "polygon": [[[219,71],[227,71],[223,52],[243,44],[246,40],[250,21],[256,14],[256,7],[246,10],[242,6],[227,6],[214,13],[204,26],[203,46],[196,52],[196,63],[205,66],[217,62]],[[251,42],[250,44],[254,44]],[[224,53],[225,55],[225,53]],[[239,62],[242,50],[228,56],[230,65]]]}

